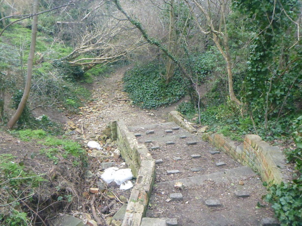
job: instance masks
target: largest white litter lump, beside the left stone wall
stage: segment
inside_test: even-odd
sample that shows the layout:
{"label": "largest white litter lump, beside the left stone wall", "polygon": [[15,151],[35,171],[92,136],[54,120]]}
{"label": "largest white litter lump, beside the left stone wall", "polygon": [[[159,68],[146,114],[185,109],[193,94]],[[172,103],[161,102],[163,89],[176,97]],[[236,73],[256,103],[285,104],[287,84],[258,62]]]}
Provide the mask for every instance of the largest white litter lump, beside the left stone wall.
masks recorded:
{"label": "largest white litter lump, beside the left stone wall", "polygon": [[117,167],[110,167],[104,171],[101,178],[108,184],[114,181],[117,185],[120,185],[127,180],[131,180],[133,174],[131,169],[119,170]]}

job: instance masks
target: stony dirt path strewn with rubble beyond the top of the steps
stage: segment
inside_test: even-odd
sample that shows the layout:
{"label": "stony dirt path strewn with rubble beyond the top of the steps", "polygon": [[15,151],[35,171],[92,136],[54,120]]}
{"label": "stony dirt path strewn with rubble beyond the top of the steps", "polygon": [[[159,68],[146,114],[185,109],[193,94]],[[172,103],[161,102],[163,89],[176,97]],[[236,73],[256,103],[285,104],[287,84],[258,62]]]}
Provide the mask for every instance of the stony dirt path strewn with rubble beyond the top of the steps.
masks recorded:
{"label": "stony dirt path strewn with rubble beyond the top of the steps", "polygon": [[165,122],[168,112],[175,109],[176,104],[152,110],[132,105],[127,93],[123,92],[123,75],[128,68],[124,66],[108,78],[98,78],[93,85],[93,101],[82,107],[80,115],[72,118],[77,126],[83,124],[86,139],[95,137],[114,120],[123,120],[128,126]]}

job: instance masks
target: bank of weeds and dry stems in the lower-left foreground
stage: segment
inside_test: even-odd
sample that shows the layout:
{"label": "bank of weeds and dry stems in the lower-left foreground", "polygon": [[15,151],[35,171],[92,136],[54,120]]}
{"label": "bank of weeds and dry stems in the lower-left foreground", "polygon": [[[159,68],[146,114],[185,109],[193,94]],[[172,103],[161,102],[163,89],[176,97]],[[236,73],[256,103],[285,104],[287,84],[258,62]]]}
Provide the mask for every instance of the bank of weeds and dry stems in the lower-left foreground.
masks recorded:
{"label": "bank of weeds and dry stems in the lower-left foreground", "polygon": [[9,147],[10,142],[7,147],[5,142],[1,145],[0,225],[47,224],[58,212],[79,205],[82,188],[78,184],[84,184],[87,166],[81,145],[42,129],[11,133],[20,139],[22,149]]}

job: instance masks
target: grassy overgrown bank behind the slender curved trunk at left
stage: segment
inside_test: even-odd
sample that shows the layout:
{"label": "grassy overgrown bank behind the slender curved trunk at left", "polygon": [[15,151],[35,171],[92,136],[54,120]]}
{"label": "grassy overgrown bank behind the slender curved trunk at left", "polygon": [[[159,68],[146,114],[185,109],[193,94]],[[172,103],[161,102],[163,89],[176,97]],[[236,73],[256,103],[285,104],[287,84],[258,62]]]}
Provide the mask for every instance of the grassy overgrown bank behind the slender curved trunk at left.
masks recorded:
{"label": "grassy overgrown bank behind the slender curved trunk at left", "polygon": [[[1,36],[0,45],[0,101],[4,102],[4,93],[12,96],[11,107],[16,109],[23,95],[24,75],[30,43],[30,29],[26,24],[15,24],[9,27],[9,32]],[[22,36],[20,34],[22,33]],[[82,68],[70,66],[66,61],[57,60],[72,51],[54,42],[54,38],[43,32],[38,32],[37,54],[33,69],[30,100],[18,121],[18,127],[33,126],[36,122],[31,118],[31,106],[61,106],[70,112],[78,112],[78,107],[90,98],[90,92],[82,83],[92,83],[96,76],[106,76],[112,70],[110,66],[98,66],[83,72]],[[18,80],[18,82],[17,82]],[[7,96],[7,95],[6,95]],[[1,106],[4,109],[4,106]],[[1,119],[7,120],[4,110]]]}

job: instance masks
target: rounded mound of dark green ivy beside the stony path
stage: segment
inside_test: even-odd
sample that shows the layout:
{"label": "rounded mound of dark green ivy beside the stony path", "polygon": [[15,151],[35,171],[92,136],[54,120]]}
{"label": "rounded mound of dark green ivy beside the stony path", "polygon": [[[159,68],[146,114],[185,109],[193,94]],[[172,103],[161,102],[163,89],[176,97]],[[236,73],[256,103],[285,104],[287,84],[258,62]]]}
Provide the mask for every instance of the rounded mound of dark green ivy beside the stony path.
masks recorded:
{"label": "rounded mound of dark green ivy beside the stony path", "polygon": [[136,66],[124,76],[124,89],[133,103],[142,108],[169,105],[187,94],[187,82],[181,75],[174,75],[166,84],[165,67],[156,63]]}

